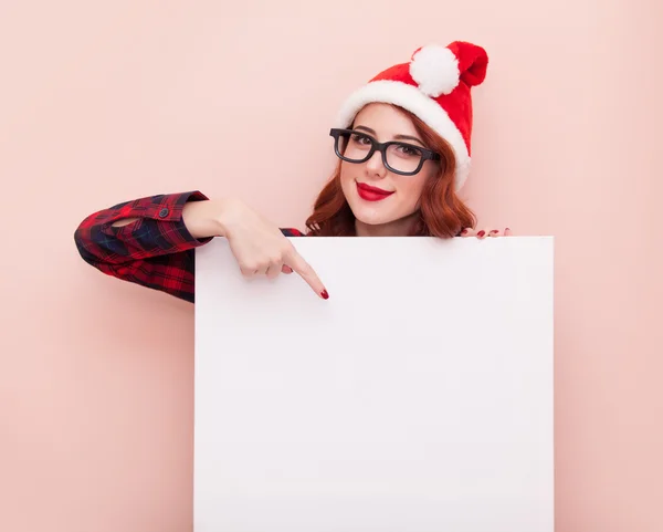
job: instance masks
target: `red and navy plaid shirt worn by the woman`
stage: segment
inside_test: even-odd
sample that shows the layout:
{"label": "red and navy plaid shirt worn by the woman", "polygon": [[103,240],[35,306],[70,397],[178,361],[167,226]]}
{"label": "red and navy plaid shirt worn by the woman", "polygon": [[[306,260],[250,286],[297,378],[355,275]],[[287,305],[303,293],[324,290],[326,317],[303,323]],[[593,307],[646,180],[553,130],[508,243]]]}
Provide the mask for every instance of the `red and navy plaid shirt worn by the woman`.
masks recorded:
{"label": "red and navy plaid shirt worn by the woman", "polygon": [[[212,238],[193,238],[182,221],[182,208],[204,199],[198,190],[150,196],[90,215],[74,232],[78,253],[103,273],[193,303],[194,250]],[[138,220],[113,227],[124,218]],[[303,236],[297,229],[281,232]]]}

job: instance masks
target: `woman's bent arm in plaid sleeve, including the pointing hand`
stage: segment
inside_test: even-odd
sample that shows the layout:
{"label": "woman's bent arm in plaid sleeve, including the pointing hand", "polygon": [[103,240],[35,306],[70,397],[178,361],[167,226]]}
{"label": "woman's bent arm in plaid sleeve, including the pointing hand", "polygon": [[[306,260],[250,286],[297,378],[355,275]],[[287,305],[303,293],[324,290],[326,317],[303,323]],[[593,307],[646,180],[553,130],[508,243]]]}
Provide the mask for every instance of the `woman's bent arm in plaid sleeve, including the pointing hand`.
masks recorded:
{"label": "woman's bent arm in plaid sleeve, including the pointing hand", "polygon": [[[103,273],[193,302],[196,248],[213,237],[228,237],[241,249],[242,264],[262,264],[273,255],[274,247],[283,248],[272,231],[241,201],[210,200],[191,191],[125,201],[90,215],[74,240],[83,260]],[[285,237],[302,236],[296,229],[278,231]],[[234,234],[239,237],[233,239]],[[287,250],[307,282],[316,289],[322,285],[294,249]],[[233,253],[236,257],[238,250]]]}

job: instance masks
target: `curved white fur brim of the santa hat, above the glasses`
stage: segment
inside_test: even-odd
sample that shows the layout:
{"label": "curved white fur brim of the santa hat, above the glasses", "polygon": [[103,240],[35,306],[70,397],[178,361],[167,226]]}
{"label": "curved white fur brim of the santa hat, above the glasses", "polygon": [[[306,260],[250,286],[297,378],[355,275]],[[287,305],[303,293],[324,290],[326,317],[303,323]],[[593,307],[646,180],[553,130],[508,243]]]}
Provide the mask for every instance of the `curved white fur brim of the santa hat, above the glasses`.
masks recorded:
{"label": "curved white fur brim of the santa hat, above the glasses", "polygon": [[380,80],[364,85],[343,104],[337,127],[348,127],[357,113],[365,105],[373,102],[393,104],[408,109],[444,138],[450,144],[455,157],[455,189],[459,190],[464,185],[470,174],[471,159],[463,135],[449,117],[446,111],[412,85],[389,80]]}

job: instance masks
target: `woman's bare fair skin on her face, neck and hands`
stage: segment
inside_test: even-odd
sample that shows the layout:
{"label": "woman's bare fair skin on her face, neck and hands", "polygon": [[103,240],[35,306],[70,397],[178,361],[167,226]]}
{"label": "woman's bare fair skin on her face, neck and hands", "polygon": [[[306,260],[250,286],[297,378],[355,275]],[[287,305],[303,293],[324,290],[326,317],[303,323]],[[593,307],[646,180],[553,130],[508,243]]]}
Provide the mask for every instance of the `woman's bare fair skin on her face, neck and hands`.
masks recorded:
{"label": "woman's bare fair skin on her face, neck and hands", "polygon": [[[417,144],[417,131],[410,118],[388,104],[369,104],[357,115],[355,129],[367,131],[380,142],[408,135],[408,143]],[[366,131],[366,129],[365,129]],[[421,144],[421,139],[419,139]],[[425,147],[421,144],[422,147]],[[361,164],[343,161],[340,179],[344,195],[356,217],[359,237],[406,236],[415,222],[419,200],[427,179],[435,176],[436,163],[427,160],[414,176],[401,176],[388,170],[379,153]],[[357,182],[393,190],[381,201],[366,201],[359,197]],[[136,218],[118,220],[115,227],[131,223]],[[329,298],[323,281],[296,251],[277,226],[238,198],[191,201],[182,209],[182,220],[194,238],[225,237],[229,240],[242,274],[248,278],[280,273],[297,273],[323,299]],[[497,237],[501,231],[465,230],[463,237]],[[508,229],[503,233],[508,234]]]}

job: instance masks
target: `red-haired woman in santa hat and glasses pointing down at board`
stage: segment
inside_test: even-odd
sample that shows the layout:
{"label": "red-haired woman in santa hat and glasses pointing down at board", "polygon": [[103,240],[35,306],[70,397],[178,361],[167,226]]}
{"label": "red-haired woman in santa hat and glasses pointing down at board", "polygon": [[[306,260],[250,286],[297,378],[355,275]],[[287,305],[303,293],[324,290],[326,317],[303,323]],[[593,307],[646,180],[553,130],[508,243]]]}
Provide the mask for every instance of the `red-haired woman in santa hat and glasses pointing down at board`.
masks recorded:
{"label": "red-haired woman in santa hat and glasses pointing down at board", "polygon": [[330,131],[338,165],[305,233],[274,227],[236,198],[191,191],[88,216],[75,231],[78,252],[106,274],[193,302],[194,248],[225,237],[244,277],[295,271],[327,299],[286,237],[497,236],[474,233],[474,215],[456,196],[470,170],[470,91],[487,62],[467,42],[423,46],[351,94]]}

